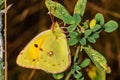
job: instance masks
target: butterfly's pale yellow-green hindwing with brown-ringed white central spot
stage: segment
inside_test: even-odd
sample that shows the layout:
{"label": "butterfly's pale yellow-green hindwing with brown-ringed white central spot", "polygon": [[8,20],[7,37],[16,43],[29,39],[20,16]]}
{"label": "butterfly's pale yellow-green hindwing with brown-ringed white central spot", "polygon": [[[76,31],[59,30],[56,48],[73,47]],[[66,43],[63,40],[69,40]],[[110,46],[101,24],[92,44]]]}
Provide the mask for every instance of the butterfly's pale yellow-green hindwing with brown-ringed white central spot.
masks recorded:
{"label": "butterfly's pale yellow-green hindwing with brown-ringed white central spot", "polygon": [[39,66],[47,72],[60,73],[70,65],[69,48],[64,35],[51,35],[41,46]]}

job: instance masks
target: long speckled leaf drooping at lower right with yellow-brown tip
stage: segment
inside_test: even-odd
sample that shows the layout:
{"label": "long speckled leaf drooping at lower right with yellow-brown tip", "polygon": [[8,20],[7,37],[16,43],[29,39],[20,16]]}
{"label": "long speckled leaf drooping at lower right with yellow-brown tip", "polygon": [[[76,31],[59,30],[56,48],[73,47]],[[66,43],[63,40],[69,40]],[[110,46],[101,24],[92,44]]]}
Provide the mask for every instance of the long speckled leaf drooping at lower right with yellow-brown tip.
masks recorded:
{"label": "long speckled leaf drooping at lower right with yellow-brown tip", "polygon": [[105,71],[106,73],[111,72],[110,68],[107,65],[106,59],[101,53],[88,47],[84,47],[83,49],[85,50],[85,52],[87,53],[87,55],[90,57],[90,59],[93,61],[97,68]]}

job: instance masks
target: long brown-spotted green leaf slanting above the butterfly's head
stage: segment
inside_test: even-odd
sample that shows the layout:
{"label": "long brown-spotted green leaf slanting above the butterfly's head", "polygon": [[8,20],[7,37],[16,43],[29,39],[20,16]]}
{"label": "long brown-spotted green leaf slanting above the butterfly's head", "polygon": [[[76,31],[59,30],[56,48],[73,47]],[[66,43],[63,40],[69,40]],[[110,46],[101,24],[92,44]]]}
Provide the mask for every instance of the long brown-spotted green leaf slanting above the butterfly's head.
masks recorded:
{"label": "long brown-spotted green leaf slanting above the butterfly's head", "polygon": [[50,13],[55,17],[62,19],[67,24],[75,23],[73,17],[69,14],[63,5],[51,0],[46,0],[45,4]]}

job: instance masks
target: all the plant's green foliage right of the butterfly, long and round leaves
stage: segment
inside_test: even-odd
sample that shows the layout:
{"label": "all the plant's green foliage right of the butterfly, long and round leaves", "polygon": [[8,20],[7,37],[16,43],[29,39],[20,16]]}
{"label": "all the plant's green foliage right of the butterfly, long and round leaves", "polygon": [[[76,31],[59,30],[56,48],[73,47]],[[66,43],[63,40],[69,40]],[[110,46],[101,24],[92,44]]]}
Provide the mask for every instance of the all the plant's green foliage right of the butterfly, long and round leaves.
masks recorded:
{"label": "all the plant's green foliage right of the butterfly, long and round leaves", "polygon": [[[118,28],[118,23],[114,20],[105,22],[104,17],[101,13],[97,13],[95,17],[88,21],[82,22],[87,0],[78,0],[73,15],[65,9],[63,5],[52,0],[46,0],[46,6],[50,13],[55,17],[63,20],[68,25],[69,32],[69,46],[80,45],[95,66],[104,71],[110,73],[111,70],[107,65],[107,61],[104,56],[93,48],[89,47],[90,43],[96,43],[96,40],[100,37],[100,32],[113,32]],[[82,52],[80,49],[80,51]],[[78,56],[78,55],[77,55]],[[76,57],[76,55],[74,56]],[[88,66],[90,63],[89,59],[83,60],[78,65],[78,62],[73,63],[71,74],[76,80],[84,80],[81,69]]]}

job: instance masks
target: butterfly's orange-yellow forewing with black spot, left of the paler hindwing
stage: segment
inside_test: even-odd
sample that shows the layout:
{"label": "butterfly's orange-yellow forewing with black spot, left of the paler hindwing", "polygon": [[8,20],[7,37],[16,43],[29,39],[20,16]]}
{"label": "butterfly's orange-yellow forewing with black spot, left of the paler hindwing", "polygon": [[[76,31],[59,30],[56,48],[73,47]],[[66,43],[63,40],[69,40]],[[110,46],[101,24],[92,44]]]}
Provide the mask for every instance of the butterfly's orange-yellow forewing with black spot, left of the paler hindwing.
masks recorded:
{"label": "butterfly's orange-yellow forewing with black spot, left of the paler hindwing", "polygon": [[37,47],[42,45],[45,38],[50,35],[50,32],[50,30],[46,30],[38,34],[32,41],[30,41],[18,55],[16,61],[17,64],[22,67],[39,69],[40,49]]}

